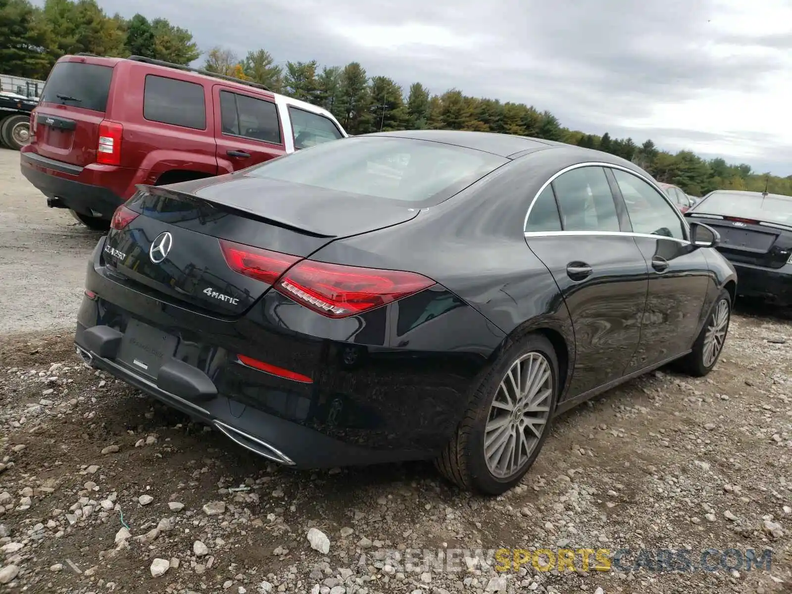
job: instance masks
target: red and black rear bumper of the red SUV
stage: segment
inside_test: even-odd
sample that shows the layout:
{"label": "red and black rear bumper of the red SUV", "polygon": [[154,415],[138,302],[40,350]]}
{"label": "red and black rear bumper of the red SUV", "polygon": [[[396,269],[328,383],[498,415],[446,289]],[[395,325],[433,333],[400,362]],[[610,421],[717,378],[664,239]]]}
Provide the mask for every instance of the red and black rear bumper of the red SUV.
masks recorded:
{"label": "red and black rear bumper of the red SUV", "polygon": [[28,181],[53,200],[53,205],[83,215],[98,213],[103,219],[112,218],[113,211],[126,200],[124,195],[136,173],[124,167],[76,166],[25,148],[29,147],[23,147],[20,168]]}

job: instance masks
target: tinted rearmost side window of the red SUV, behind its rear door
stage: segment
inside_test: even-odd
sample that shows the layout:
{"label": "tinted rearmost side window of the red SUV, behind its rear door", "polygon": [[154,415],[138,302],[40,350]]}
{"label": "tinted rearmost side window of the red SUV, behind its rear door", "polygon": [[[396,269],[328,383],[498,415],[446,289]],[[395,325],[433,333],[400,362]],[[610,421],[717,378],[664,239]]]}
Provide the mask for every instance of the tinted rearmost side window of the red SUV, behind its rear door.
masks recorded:
{"label": "tinted rearmost side window of the red SUV, behind its rear door", "polygon": [[148,74],[143,93],[143,117],[153,122],[205,130],[204,87]]}

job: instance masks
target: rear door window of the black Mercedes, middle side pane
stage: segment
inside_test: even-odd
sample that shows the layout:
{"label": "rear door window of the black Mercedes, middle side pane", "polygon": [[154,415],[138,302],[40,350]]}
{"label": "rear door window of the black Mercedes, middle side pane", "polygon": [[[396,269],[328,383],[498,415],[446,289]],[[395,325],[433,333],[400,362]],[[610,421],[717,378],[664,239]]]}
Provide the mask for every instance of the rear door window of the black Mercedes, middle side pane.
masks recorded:
{"label": "rear door window of the black Mercedes, middle side pane", "polygon": [[602,167],[572,169],[553,181],[565,231],[619,231],[619,215]]}

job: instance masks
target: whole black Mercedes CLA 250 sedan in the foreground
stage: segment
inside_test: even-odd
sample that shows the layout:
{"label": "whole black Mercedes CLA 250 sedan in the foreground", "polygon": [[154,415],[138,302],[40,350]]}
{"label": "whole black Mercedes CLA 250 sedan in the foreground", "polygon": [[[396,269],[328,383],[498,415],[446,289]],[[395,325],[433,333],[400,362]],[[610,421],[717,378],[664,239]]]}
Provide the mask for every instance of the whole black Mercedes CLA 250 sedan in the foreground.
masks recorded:
{"label": "whole black Mercedes CLA 250 sedan in the foreground", "polygon": [[737,277],[647,173],[562,143],[405,131],[140,186],[89,262],[95,367],[298,468],[523,477],[558,413],[722,352]]}

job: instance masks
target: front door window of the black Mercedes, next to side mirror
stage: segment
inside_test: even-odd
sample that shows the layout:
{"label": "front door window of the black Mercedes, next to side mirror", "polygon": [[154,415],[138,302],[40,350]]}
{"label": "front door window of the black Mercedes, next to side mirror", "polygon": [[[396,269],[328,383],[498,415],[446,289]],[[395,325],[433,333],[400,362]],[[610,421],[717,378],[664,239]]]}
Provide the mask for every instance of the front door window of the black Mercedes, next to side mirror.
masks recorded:
{"label": "front door window of the black Mercedes, next to side mirror", "polygon": [[632,173],[613,169],[613,175],[624,196],[635,233],[686,239],[682,221],[674,207],[663,200],[657,190]]}

